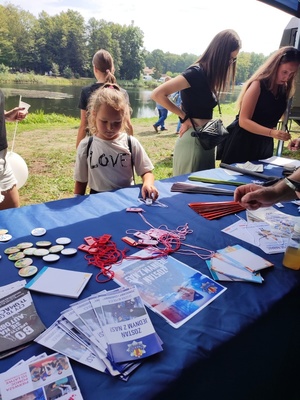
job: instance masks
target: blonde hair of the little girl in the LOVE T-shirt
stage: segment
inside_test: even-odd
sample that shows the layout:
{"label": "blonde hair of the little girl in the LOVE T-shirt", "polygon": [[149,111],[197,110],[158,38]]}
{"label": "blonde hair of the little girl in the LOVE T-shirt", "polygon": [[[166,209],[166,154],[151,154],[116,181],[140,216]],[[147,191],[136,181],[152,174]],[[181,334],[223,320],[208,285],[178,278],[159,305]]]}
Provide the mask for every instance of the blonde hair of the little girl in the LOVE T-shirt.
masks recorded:
{"label": "blonde hair of the little girl in the LOVE T-shirt", "polygon": [[96,115],[103,105],[109,105],[119,111],[122,118],[121,130],[126,129],[126,120],[130,112],[124,93],[116,83],[105,83],[95,90],[88,103],[88,128],[92,134],[96,133]]}

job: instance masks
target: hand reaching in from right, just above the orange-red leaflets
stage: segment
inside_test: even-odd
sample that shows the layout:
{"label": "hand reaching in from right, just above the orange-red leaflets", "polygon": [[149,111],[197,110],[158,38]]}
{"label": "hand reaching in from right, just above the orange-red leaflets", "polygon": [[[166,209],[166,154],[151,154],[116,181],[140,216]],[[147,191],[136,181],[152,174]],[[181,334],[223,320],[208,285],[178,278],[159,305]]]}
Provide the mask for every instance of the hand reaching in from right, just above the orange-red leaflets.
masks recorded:
{"label": "hand reaching in from right, just above the orange-red leaflets", "polygon": [[271,188],[250,183],[236,188],[234,201],[239,202],[248,210],[257,210],[260,207],[270,207],[274,204],[274,195]]}

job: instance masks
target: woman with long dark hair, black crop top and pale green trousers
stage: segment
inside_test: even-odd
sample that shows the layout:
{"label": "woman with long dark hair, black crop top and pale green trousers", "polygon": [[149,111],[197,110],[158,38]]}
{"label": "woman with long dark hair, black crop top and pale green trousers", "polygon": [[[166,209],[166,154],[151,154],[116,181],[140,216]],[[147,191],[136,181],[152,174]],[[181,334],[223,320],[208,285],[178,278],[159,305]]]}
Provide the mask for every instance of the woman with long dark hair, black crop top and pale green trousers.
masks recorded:
{"label": "woman with long dark hair, black crop top and pale green trousers", "polygon": [[[215,149],[204,150],[194,127],[202,127],[213,116],[219,93],[234,83],[236,57],[241,47],[237,33],[219,32],[201,57],[181,75],[163,83],[152,92],[152,99],[177,114],[181,121],[173,156],[173,175],[182,175],[215,167]],[[181,108],[169,95],[181,92]]]}

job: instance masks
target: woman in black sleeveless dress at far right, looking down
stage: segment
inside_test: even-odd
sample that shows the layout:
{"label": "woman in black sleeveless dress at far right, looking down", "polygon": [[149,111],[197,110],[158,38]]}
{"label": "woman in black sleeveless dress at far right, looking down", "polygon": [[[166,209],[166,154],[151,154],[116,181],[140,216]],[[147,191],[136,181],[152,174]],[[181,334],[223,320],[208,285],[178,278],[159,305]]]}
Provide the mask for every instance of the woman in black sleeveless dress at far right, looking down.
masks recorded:
{"label": "woman in black sleeveless dress at far right, looking down", "polygon": [[222,162],[272,157],[274,139],[291,138],[289,132],[276,126],[295,92],[299,63],[299,50],[281,47],[244,84],[237,101],[239,115],[228,127],[230,135],[224,142]]}

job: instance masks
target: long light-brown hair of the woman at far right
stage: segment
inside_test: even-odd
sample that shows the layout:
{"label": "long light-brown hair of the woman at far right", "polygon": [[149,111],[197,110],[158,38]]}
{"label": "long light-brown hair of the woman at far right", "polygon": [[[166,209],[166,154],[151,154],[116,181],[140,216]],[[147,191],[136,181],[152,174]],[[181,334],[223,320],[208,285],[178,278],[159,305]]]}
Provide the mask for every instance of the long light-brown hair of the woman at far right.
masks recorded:
{"label": "long light-brown hair of the woman at far right", "polygon": [[[241,93],[237,99],[238,108],[241,107],[242,100],[244,94],[246,93],[247,89],[254,81],[262,81],[264,80],[266,83],[266,88],[271,92],[275,92],[277,84],[277,71],[280,65],[286,64],[288,62],[296,62],[300,63],[300,52],[293,46],[284,46],[281,47],[279,50],[275,51],[265,62],[261,65],[257,71],[248,79],[243,88]],[[286,99],[291,98],[296,90],[296,76],[294,74],[288,81],[287,85],[280,85],[279,90],[281,93],[285,93]],[[278,93],[280,94],[280,92]]]}

